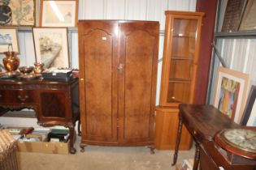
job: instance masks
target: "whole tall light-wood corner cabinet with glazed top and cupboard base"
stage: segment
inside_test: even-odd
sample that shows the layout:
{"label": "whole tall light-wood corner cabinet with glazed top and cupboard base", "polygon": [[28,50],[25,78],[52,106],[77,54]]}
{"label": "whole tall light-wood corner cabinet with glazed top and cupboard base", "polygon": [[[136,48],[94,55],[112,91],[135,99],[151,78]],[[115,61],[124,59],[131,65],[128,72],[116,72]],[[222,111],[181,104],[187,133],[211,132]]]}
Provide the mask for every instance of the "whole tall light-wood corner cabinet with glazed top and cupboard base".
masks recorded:
{"label": "whole tall light-wood corner cabinet with glazed top and cupboard base", "polygon": [[[181,103],[192,104],[197,83],[197,60],[202,16],[200,12],[166,11],[160,104],[156,108],[155,147],[174,149]],[[183,127],[180,149],[191,147]]]}

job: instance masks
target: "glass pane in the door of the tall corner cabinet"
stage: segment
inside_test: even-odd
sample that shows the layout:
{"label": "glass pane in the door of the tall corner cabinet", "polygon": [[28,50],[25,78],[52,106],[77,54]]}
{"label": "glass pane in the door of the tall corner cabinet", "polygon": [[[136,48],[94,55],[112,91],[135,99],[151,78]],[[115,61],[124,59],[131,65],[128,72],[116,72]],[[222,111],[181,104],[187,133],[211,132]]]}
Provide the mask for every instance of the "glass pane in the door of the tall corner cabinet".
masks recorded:
{"label": "glass pane in the door of the tall corner cabinet", "polygon": [[188,103],[197,38],[197,19],[174,19],[168,103]]}

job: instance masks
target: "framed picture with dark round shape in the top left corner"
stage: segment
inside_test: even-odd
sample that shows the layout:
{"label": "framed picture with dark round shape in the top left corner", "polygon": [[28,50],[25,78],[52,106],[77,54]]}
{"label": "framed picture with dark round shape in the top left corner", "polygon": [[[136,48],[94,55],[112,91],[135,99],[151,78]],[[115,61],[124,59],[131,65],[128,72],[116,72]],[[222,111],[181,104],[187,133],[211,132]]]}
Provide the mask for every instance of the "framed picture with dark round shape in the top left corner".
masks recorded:
{"label": "framed picture with dark round shape in the top left corner", "polygon": [[0,24],[12,26],[35,26],[37,23],[37,0],[2,0]]}

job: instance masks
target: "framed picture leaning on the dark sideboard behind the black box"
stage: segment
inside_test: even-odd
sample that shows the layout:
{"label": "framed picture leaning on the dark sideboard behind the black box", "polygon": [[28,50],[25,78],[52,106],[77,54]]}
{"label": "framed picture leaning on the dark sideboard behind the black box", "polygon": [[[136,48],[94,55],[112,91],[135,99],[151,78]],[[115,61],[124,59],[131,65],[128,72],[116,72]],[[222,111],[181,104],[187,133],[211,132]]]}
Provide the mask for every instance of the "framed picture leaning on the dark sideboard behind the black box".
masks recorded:
{"label": "framed picture leaning on the dark sideboard behind the black box", "polygon": [[67,28],[33,28],[36,62],[46,68],[69,67]]}

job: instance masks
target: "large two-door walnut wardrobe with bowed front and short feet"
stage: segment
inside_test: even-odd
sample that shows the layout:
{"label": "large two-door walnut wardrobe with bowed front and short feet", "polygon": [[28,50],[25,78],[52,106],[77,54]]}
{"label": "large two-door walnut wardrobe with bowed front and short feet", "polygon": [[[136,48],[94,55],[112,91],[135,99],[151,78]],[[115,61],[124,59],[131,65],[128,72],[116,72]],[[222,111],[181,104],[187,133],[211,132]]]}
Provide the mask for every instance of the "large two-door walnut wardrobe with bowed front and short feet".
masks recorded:
{"label": "large two-door walnut wardrobe with bowed front and short feet", "polygon": [[159,23],[80,20],[80,121],[87,144],[154,144]]}

